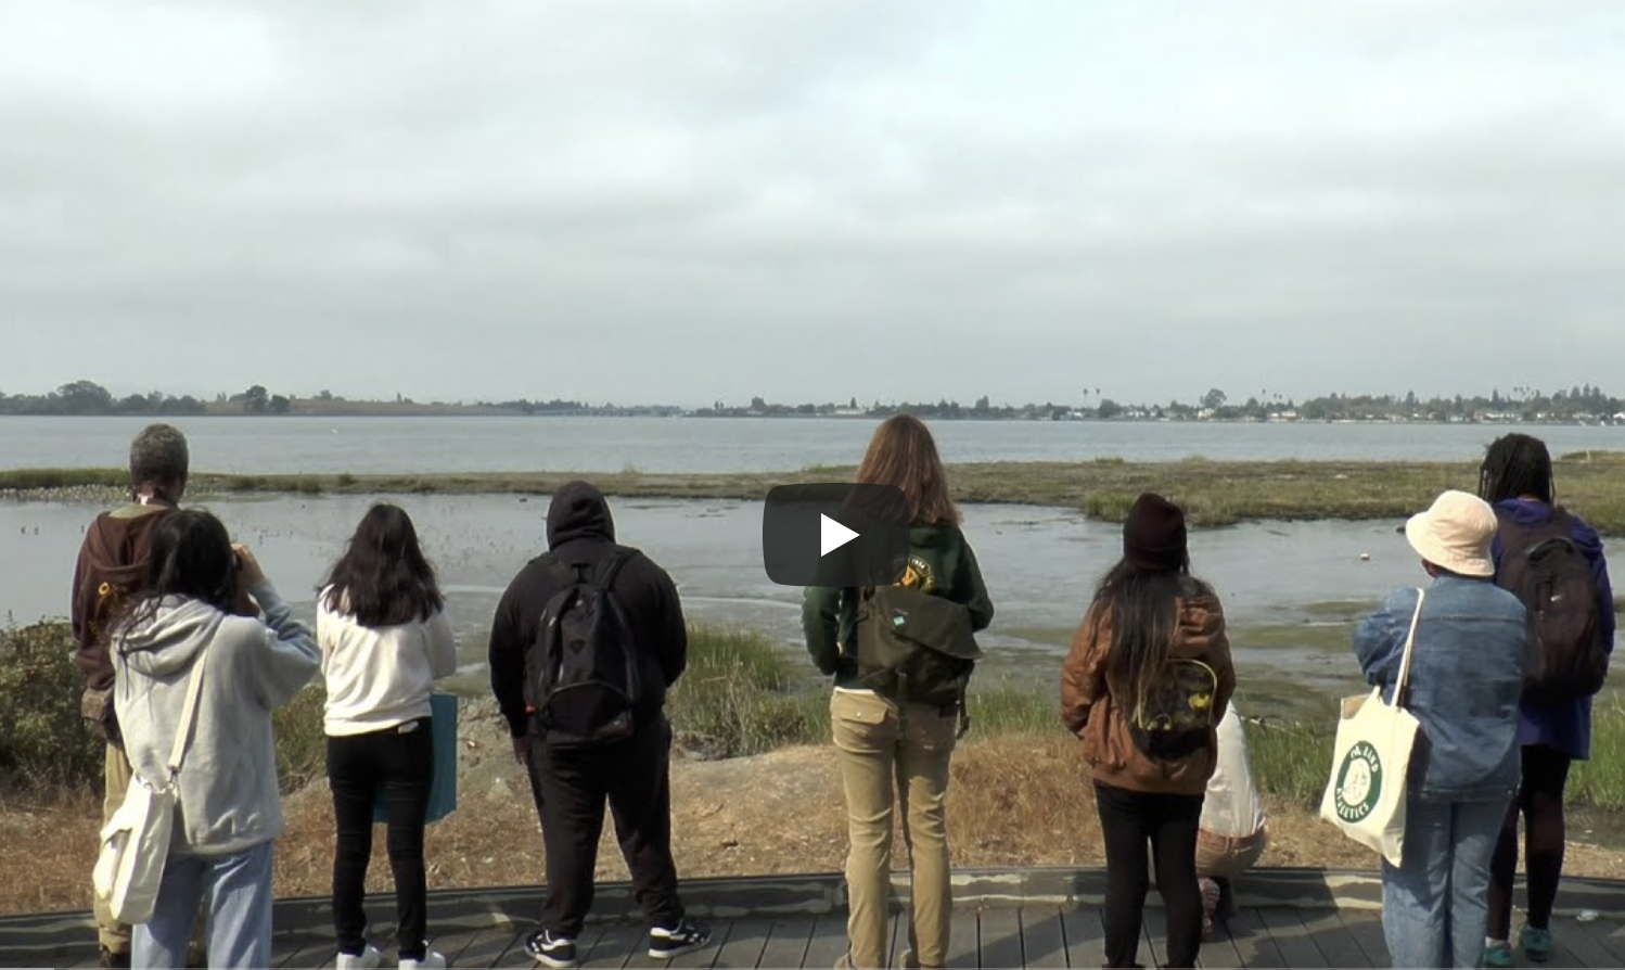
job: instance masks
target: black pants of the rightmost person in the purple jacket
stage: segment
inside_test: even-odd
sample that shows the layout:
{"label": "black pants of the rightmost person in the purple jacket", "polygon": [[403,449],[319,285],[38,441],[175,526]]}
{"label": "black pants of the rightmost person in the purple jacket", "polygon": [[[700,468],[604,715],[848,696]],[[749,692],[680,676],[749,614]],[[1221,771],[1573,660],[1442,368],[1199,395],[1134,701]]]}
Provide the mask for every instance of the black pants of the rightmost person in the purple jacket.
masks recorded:
{"label": "black pants of the rightmost person in the purple jacket", "polygon": [[1490,938],[1511,939],[1513,879],[1518,876],[1518,816],[1524,821],[1524,871],[1529,874],[1529,925],[1545,929],[1563,876],[1563,786],[1570,757],[1545,744],[1523,749],[1523,783],[1506,809],[1490,856]]}

